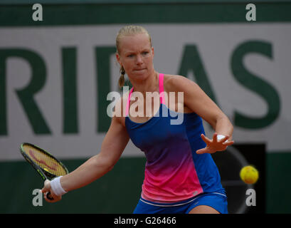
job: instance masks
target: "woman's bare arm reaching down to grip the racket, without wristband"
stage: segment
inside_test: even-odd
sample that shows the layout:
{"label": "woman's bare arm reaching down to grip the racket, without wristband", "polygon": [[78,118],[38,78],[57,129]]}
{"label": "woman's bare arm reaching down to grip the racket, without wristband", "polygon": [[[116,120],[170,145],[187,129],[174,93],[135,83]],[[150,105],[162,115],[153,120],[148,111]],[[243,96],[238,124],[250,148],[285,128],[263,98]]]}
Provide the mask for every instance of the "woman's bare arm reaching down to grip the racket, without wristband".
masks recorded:
{"label": "woman's bare arm reaching down to grip the racket, without wristband", "polygon": [[[63,190],[69,192],[89,185],[112,170],[116,162],[120,159],[123,150],[125,150],[128,141],[129,136],[125,126],[122,125],[120,118],[113,117],[110,128],[102,142],[100,153],[90,157],[89,160],[73,172],[61,177],[60,185],[63,187]],[[51,192],[51,185],[45,184],[42,192]],[[51,192],[51,194],[54,197],[54,192]],[[50,201],[48,200],[48,202]]]}

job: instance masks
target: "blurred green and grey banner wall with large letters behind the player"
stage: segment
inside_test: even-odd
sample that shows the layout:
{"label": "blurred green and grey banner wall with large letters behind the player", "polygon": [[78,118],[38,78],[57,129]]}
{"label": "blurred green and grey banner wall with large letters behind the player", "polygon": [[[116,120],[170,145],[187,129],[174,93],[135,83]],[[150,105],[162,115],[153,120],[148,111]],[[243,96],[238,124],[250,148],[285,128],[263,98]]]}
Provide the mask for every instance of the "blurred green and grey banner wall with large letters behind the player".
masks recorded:
{"label": "blurred green and grey banner wall with large letters behind the player", "polygon": [[[2,0],[0,213],[132,213],[146,162],[132,142],[100,180],[42,206],[33,206],[41,177],[19,152],[31,142],[72,171],[100,151],[110,125],[107,94],[122,94],[115,36],[127,24],[151,34],[158,72],[196,81],[231,119],[236,145],[213,155],[229,212],[290,213],[291,1],[248,4]],[[239,177],[249,164],[260,172],[255,185]],[[245,204],[248,189],[255,206]]]}

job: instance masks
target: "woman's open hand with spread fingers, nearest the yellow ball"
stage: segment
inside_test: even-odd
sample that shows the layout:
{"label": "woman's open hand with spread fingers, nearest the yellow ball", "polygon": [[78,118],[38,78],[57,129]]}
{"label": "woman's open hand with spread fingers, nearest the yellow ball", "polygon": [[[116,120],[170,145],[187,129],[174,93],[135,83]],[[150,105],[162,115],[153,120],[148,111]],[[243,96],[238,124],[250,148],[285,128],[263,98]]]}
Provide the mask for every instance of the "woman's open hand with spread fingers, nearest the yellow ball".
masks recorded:
{"label": "woman's open hand with spread fingers, nearest the yellow ball", "polygon": [[202,140],[206,143],[206,147],[202,148],[200,150],[197,150],[196,153],[201,155],[203,153],[214,153],[216,151],[223,151],[226,150],[226,147],[228,145],[233,145],[233,140],[228,141],[229,135],[226,135],[225,138],[222,138],[221,140],[217,140],[217,133],[213,134],[213,139],[207,138],[205,135],[201,134]]}

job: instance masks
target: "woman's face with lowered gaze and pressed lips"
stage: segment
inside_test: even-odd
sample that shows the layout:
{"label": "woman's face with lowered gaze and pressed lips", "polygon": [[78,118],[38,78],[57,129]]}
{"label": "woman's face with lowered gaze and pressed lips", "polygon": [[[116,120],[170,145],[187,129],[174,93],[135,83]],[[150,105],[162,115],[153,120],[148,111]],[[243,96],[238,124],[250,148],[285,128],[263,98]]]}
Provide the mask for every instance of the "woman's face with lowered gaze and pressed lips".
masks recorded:
{"label": "woman's face with lowered gaze and pressed lips", "polygon": [[151,47],[147,33],[123,36],[119,52],[116,54],[120,66],[133,80],[144,80],[154,71],[154,48]]}

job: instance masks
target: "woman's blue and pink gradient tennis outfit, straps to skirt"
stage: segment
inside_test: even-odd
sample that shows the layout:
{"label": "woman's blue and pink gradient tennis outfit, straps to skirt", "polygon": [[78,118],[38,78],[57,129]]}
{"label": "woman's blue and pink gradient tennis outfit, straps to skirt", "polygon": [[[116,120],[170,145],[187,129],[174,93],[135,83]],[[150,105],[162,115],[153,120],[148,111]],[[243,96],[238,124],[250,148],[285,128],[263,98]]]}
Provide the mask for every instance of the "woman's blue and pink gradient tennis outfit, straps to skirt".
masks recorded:
{"label": "woman's blue and pink gradient tennis outfit, straps to skirt", "polygon": [[[206,147],[201,117],[196,113],[176,113],[164,102],[164,74],[159,74],[159,111],[144,123],[128,116],[129,91],[125,126],[129,138],[147,157],[142,195],[134,213],[189,213],[199,205],[208,205],[228,213],[226,192],[210,154],[197,155]],[[165,115],[165,113],[167,115]],[[181,124],[171,120],[183,115]]]}

